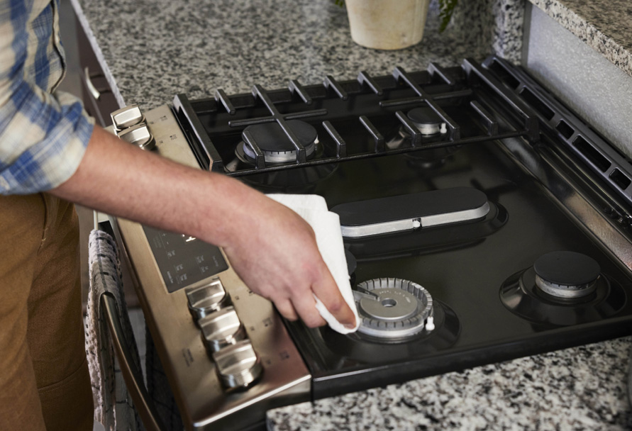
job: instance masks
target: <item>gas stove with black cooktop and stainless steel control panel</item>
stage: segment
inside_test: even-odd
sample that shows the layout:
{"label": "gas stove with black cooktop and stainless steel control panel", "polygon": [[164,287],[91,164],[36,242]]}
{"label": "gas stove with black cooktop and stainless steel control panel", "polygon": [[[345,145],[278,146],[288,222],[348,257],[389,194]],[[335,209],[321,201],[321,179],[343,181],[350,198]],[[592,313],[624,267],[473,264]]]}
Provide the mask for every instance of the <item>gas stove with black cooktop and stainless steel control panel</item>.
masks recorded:
{"label": "gas stove with black cooktop and stainless steel control panel", "polygon": [[499,57],[112,117],[128,142],[340,215],[350,335],[283,320],[218,247],[117,220],[189,430],[631,332],[632,165]]}

